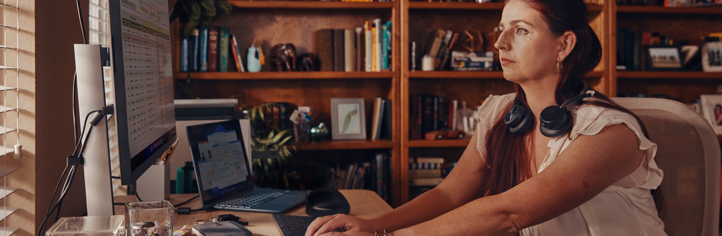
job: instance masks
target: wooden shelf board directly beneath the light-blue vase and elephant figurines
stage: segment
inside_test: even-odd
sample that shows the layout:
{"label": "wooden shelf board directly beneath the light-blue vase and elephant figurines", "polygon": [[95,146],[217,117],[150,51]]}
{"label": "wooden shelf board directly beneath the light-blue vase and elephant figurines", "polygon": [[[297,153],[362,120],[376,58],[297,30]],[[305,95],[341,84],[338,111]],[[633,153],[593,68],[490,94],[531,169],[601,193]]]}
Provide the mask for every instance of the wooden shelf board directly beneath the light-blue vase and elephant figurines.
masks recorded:
{"label": "wooden shelf board directly beneath the light-blue vase and elephant figurines", "polygon": [[292,72],[176,72],[175,79],[391,79],[393,72],[292,71]]}

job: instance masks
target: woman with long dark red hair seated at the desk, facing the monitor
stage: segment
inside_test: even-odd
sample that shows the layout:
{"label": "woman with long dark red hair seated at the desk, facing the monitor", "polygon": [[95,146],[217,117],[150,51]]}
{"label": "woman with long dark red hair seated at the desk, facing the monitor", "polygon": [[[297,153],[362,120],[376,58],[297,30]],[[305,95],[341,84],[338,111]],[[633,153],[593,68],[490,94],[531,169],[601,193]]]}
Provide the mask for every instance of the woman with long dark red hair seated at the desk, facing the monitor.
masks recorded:
{"label": "woman with long dark red hair seated at the desk, facing the monitor", "polygon": [[[393,236],[666,235],[651,194],[662,179],[656,145],[629,110],[583,89],[601,59],[583,1],[508,0],[499,29],[495,47],[516,93],[484,101],[469,147],[443,183],[375,219],[318,218],[307,236],[385,227]],[[544,108],[592,93],[571,111],[570,131],[541,133]],[[515,103],[534,123],[512,134],[505,114]]]}

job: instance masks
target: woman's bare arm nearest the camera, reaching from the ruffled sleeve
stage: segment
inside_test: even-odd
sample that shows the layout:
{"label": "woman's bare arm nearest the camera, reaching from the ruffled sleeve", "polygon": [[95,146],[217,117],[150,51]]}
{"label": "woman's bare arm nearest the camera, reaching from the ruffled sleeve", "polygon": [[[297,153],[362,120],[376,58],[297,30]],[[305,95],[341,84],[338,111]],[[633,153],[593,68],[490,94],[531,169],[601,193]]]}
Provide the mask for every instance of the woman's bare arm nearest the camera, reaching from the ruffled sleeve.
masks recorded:
{"label": "woman's bare arm nearest the camera, reaching from the ruffled sleeve", "polygon": [[644,158],[638,147],[624,124],[579,136],[547,169],[509,191],[392,235],[513,235],[570,211],[629,175]]}

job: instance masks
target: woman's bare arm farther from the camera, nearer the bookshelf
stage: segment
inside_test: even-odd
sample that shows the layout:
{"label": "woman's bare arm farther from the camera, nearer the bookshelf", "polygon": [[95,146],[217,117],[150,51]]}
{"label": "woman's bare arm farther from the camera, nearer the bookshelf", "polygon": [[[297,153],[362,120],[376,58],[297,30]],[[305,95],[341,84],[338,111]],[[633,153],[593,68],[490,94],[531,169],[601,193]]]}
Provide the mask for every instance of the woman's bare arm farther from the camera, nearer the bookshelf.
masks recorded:
{"label": "woman's bare arm farther from the camera, nearer the bookshelf", "polygon": [[402,229],[427,222],[480,198],[487,190],[488,168],[477,150],[477,132],[471,136],[456,167],[436,188],[373,219],[377,230]]}

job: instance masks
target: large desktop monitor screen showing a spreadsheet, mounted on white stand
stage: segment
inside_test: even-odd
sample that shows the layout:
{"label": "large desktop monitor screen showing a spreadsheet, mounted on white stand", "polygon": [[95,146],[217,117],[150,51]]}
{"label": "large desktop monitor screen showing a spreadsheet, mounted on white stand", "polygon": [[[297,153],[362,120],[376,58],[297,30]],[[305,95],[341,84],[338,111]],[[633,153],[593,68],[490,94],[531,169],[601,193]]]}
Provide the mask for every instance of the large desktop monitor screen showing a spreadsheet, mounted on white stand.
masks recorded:
{"label": "large desktop monitor screen showing a spreadsheet, mounted on white stand", "polygon": [[175,141],[167,0],[110,0],[121,182],[131,184]]}

